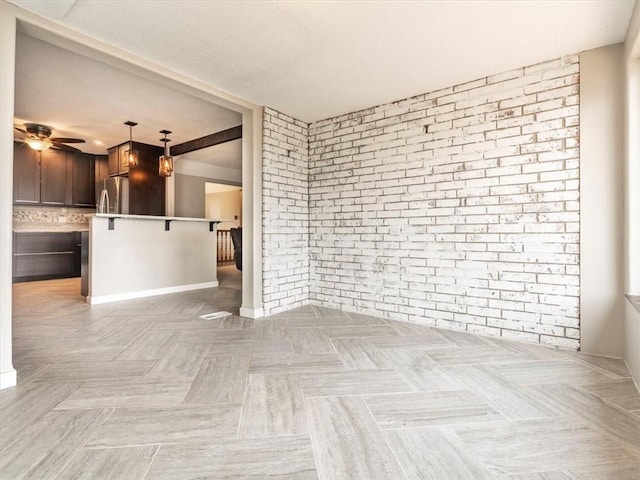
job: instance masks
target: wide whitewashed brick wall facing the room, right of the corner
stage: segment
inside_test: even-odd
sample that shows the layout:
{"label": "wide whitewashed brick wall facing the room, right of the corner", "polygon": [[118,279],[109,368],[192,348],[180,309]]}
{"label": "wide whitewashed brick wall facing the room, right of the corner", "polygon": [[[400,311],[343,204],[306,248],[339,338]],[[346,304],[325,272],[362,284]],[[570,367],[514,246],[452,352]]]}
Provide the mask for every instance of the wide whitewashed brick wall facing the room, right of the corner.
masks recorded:
{"label": "wide whitewashed brick wall facing the room, right of the corner", "polygon": [[578,73],[568,56],[311,124],[311,300],[578,347]]}

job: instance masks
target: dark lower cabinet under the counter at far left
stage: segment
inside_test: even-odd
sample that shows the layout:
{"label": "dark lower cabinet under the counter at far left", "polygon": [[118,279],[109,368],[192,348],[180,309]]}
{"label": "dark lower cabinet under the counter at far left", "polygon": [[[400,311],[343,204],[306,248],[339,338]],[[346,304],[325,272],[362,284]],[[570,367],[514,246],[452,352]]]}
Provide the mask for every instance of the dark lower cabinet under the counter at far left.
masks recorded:
{"label": "dark lower cabinet under the counter at far left", "polygon": [[14,232],[13,282],[80,276],[81,232]]}

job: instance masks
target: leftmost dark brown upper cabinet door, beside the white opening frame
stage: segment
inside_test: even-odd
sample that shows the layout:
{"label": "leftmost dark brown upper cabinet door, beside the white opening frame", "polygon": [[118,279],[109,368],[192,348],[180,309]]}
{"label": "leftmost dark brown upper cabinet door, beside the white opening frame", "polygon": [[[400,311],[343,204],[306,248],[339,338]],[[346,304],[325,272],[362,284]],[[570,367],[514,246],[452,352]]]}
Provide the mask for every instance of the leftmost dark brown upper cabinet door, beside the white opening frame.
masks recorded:
{"label": "leftmost dark brown upper cabinet door, beside the white opening frame", "polygon": [[13,144],[13,202],[40,203],[40,152]]}

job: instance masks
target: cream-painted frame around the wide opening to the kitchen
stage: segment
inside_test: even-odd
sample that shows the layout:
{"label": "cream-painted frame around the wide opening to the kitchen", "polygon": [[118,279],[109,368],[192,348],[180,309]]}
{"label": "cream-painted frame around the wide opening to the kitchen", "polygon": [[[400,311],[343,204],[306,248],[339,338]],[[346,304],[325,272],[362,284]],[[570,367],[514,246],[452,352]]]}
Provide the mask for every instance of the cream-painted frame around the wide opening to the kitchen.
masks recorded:
{"label": "cream-painted frame around the wide opening to the kitchen", "polygon": [[[15,36],[17,31],[62,46],[80,55],[99,59],[141,78],[169,86],[193,95],[204,102],[229,108],[242,115],[242,185],[244,188],[242,217],[244,274],[242,278],[243,316],[262,316],[262,248],[253,239],[262,238],[262,107],[229,95],[169,68],[137,57],[112,45],[104,44],[82,33],[64,28],[13,5],[2,3],[0,15],[0,43],[3,62],[0,65],[0,102],[14,104]],[[6,40],[6,41],[5,41]],[[11,265],[12,260],[12,183],[13,183],[13,109],[0,112],[0,263]],[[0,389],[16,384],[12,356],[12,269],[0,271]]]}

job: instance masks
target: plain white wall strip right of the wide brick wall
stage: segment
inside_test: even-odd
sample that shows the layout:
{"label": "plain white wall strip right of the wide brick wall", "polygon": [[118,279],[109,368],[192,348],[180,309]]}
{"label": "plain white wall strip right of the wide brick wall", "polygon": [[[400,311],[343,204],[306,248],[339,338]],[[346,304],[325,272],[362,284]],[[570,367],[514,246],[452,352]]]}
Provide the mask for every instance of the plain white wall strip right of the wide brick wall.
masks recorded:
{"label": "plain white wall strip right of the wide brick wall", "polygon": [[588,353],[621,357],[624,322],[624,49],[580,54],[580,311]]}

